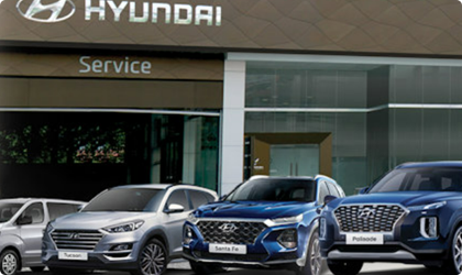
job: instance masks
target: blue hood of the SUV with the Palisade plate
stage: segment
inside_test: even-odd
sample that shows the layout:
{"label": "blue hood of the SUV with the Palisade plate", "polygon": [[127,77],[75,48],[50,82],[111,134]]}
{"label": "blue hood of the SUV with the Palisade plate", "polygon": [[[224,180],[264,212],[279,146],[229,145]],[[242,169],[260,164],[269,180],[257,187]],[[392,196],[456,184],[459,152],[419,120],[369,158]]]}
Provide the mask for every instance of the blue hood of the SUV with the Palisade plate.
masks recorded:
{"label": "blue hood of the SUV with the Palisade plate", "polygon": [[421,206],[442,200],[460,198],[461,194],[452,191],[394,191],[375,193],[336,199],[329,206],[363,204],[398,204],[404,207]]}

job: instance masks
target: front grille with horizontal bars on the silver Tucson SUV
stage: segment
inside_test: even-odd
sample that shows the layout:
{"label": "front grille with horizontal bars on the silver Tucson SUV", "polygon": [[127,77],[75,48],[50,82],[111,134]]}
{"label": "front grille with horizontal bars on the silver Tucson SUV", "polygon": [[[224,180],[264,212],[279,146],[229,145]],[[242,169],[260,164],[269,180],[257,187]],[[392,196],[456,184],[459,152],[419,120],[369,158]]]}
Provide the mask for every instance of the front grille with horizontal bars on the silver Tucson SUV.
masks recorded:
{"label": "front grille with horizontal bars on the silver Tucson SUV", "polygon": [[55,230],[52,239],[58,250],[95,250],[102,233],[97,230]]}

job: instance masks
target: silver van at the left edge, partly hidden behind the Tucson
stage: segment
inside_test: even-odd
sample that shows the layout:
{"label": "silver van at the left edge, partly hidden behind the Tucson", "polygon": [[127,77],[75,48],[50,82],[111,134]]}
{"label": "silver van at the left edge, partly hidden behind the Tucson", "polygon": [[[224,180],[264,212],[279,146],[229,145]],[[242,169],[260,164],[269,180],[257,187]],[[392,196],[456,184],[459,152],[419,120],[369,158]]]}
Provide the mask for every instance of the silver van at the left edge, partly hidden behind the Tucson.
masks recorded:
{"label": "silver van at the left edge, partly hidden behind the Tucson", "polygon": [[18,198],[0,200],[0,263],[2,275],[13,275],[22,267],[41,272],[43,230],[50,220],[77,212],[82,201]]}

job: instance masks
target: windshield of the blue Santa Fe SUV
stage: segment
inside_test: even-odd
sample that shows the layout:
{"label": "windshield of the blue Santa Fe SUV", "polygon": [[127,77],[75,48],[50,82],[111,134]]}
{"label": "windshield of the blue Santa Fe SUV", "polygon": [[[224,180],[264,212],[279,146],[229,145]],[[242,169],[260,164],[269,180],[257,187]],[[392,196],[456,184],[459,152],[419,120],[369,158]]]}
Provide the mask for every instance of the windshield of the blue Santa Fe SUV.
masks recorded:
{"label": "windshield of the blue Santa Fe SUV", "polygon": [[316,183],[312,179],[260,178],[238,187],[227,201],[306,201],[316,199]]}

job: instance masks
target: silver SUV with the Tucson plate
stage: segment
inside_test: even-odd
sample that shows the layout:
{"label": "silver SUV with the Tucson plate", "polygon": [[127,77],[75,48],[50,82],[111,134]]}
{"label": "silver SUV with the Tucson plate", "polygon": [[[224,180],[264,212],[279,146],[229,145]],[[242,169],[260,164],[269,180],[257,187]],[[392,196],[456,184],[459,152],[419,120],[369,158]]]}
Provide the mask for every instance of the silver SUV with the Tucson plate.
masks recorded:
{"label": "silver SUV with the Tucson plate", "polygon": [[182,231],[197,207],[217,200],[190,185],[130,185],[102,191],[80,212],[48,223],[42,261],[53,273],[67,268],[162,274],[182,257]]}

